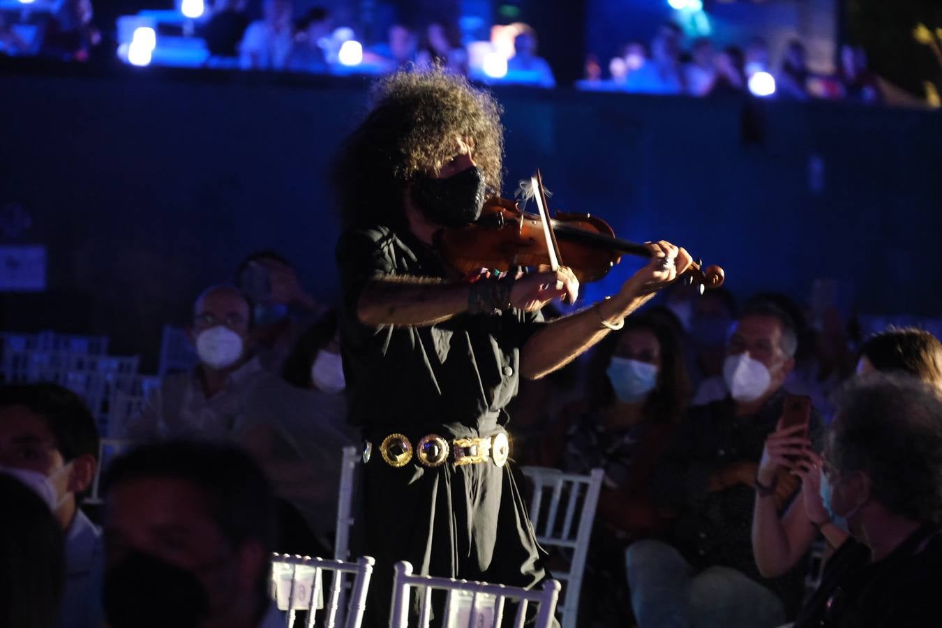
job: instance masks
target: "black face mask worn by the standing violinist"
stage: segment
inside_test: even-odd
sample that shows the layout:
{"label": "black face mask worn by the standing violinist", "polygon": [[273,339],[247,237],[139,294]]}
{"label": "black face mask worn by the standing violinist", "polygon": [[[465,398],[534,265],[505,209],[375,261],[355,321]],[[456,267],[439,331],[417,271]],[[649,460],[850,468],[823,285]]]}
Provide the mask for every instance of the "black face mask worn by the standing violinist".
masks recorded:
{"label": "black face mask worn by the standing violinist", "polygon": [[485,189],[480,170],[472,166],[447,179],[419,177],[412,187],[412,200],[435,224],[463,227],[480,217]]}

